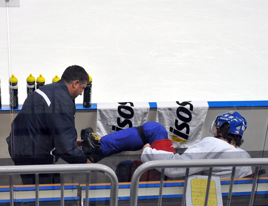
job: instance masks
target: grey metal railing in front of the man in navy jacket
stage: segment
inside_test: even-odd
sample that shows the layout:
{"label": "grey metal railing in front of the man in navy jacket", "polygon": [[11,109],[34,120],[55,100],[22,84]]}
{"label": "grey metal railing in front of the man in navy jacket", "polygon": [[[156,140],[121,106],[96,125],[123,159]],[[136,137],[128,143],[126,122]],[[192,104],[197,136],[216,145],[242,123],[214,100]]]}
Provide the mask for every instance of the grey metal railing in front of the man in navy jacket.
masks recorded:
{"label": "grey metal railing in front of the man in navy jacket", "polygon": [[35,174],[35,205],[39,206],[39,180],[40,173],[61,173],[61,206],[64,206],[64,173],[86,173],[86,197],[85,205],[88,206],[89,172],[99,171],[106,174],[111,180],[110,205],[118,204],[118,179],[114,171],[101,164],[62,164],[62,165],[26,165],[26,166],[1,166],[0,174],[9,175],[10,205],[14,205],[13,174]]}

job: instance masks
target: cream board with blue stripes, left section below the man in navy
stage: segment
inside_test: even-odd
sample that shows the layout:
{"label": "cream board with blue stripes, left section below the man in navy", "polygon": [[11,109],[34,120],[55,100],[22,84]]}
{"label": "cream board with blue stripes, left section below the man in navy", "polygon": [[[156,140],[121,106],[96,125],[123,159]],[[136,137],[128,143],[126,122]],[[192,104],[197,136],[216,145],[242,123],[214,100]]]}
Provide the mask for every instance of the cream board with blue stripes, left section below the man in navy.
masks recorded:
{"label": "cream board with blue stripes, left section below the man in navy", "polygon": [[[79,184],[64,184],[64,201],[78,201]],[[35,185],[15,185],[14,203],[35,202]],[[39,201],[61,201],[61,185],[39,185]],[[0,204],[10,203],[9,186],[0,186]]]}

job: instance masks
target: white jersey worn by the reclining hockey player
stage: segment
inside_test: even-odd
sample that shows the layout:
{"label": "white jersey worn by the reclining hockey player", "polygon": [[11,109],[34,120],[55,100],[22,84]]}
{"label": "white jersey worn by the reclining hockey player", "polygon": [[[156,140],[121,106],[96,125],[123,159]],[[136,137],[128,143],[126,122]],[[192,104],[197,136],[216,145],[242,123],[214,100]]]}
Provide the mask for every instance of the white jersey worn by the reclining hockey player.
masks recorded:
{"label": "white jersey worn by the reclining hockey player", "polygon": [[[183,154],[174,154],[173,152],[166,152],[162,150],[152,149],[146,147],[143,150],[141,160],[148,162],[151,160],[187,160],[187,159],[239,159],[250,158],[250,155],[241,148],[235,148],[233,145],[224,140],[214,137],[206,137],[200,142],[189,147]],[[232,167],[213,167],[212,176],[220,178],[230,178],[232,174]],[[157,169],[161,171],[161,169]],[[203,171],[203,175],[208,175],[209,168],[190,168],[189,174],[194,174]],[[235,178],[242,178],[252,174],[251,167],[236,167]],[[185,168],[167,168],[165,175],[168,177],[183,177],[185,176]]]}

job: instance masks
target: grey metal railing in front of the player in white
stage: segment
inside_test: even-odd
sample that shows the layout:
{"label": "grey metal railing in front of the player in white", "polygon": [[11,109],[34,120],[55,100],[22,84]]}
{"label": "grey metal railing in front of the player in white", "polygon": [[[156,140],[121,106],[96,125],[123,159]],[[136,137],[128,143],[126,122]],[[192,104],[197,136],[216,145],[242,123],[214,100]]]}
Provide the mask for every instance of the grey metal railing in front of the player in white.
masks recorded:
{"label": "grey metal railing in front of the player in white", "polygon": [[[146,162],[146,163],[143,163],[142,165],[140,165],[135,170],[135,172],[132,176],[129,205],[130,206],[137,205],[139,179],[140,179],[140,176],[147,170],[161,168],[161,181],[160,181],[159,198],[158,198],[158,206],[161,206],[162,188],[163,188],[163,179],[164,179],[165,168],[174,168],[174,167],[186,168],[183,198],[182,198],[182,203],[181,203],[181,205],[184,206],[185,200],[186,200],[186,188],[187,188],[187,181],[188,181],[188,176],[189,176],[189,168],[191,168],[191,167],[209,167],[209,176],[208,176],[207,189],[206,189],[206,191],[209,191],[210,181],[211,181],[211,173],[212,173],[213,167],[231,166],[231,167],[233,167],[233,170],[232,170],[232,175],[231,175],[231,180],[230,180],[230,187],[229,187],[228,201],[227,201],[227,205],[229,206],[231,203],[231,197],[232,197],[232,188],[233,188],[233,183],[234,183],[235,168],[237,166],[255,166],[255,174],[258,174],[260,166],[267,166],[267,165],[268,165],[268,158],[198,159],[198,160],[184,160],[184,161],[179,161],[179,160],[149,161],[149,162]],[[257,179],[258,179],[258,175],[255,175],[254,180],[253,180],[253,184],[252,184],[250,201],[249,201],[250,206],[253,205]],[[206,192],[204,206],[207,206],[208,198],[209,198],[209,193]]]}

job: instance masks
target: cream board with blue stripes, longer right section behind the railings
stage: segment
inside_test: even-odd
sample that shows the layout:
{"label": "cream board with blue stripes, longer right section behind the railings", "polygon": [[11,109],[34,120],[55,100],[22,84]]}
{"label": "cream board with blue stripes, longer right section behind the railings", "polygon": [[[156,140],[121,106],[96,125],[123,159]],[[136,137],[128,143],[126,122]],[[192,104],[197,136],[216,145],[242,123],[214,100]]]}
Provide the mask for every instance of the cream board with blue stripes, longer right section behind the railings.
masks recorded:
{"label": "cream board with blue stripes, longer right section behind the railings", "polygon": [[[253,178],[235,179],[232,196],[250,196]],[[158,199],[158,182],[140,182],[138,190],[138,200]],[[230,179],[221,179],[222,196],[228,196]],[[118,200],[129,200],[130,182],[119,183]],[[180,199],[183,197],[184,181],[164,181],[163,199]],[[81,200],[85,201],[85,185],[80,185]],[[256,195],[268,195],[268,178],[259,178],[258,190]],[[89,201],[109,201],[110,184],[90,184]]]}

